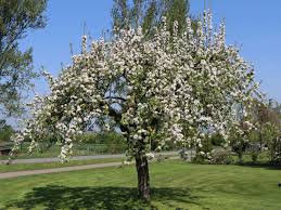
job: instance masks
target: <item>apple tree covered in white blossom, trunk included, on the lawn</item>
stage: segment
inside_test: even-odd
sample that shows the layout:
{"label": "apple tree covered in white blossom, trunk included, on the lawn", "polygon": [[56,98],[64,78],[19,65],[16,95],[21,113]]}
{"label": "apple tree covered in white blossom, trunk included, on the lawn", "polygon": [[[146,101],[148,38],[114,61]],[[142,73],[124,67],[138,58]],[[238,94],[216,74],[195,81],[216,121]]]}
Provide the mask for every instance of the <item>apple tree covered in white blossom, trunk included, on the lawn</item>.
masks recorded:
{"label": "apple tree covered in white blossom, trunk included, on the lawn", "polygon": [[[247,106],[257,90],[254,73],[235,47],[225,41],[225,25],[212,28],[205,13],[197,28],[170,34],[162,27],[148,39],[142,29],[123,30],[112,41],[82,37],[81,54],[61,75],[49,79],[49,95],[36,96],[33,117],[17,134],[31,140],[30,150],[50,133],[62,144],[62,159],[72,154],[77,134],[99,117],[113,120],[126,137],[128,159],[136,160],[140,197],[150,198],[148,159],[169,141],[201,146],[209,132],[237,121],[233,107]],[[154,146],[152,146],[154,145]]]}

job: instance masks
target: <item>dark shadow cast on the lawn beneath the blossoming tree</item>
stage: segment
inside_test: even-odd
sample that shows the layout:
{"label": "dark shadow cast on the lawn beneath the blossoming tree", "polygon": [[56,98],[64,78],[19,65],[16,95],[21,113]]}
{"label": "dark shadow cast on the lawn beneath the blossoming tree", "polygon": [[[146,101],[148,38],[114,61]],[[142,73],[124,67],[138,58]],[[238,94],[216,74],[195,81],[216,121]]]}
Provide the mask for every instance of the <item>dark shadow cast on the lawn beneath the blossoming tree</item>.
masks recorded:
{"label": "dark shadow cast on the lawn beneath the blossoming tree", "polygon": [[[152,200],[168,209],[181,209],[178,205],[196,202],[189,188],[152,188]],[[184,206],[186,206],[184,205]],[[67,187],[47,185],[36,187],[21,200],[10,201],[5,209],[157,209],[143,202],[132,187]]]}

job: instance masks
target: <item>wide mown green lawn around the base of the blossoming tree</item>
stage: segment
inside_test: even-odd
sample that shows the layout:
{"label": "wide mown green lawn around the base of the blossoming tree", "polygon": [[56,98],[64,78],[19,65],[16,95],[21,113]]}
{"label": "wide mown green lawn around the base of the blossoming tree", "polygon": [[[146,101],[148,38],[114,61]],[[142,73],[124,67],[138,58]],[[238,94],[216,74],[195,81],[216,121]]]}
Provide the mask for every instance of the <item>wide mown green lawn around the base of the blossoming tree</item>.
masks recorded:
{"label": "wide mown green lawn around the base of the blossoming tree", "polygon": [[133,166],[0,181],[0,209],[281,209],[277,168],[151,163],[152,200],[137,199]]}

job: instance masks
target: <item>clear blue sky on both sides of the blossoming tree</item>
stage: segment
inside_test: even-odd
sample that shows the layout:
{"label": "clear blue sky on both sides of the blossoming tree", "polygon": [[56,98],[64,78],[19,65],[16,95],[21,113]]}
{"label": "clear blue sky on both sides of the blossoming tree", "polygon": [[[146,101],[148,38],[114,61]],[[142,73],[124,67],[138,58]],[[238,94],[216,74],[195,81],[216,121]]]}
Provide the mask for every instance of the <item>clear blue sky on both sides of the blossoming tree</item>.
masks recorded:
{"label": "clear blue sky on both sides of the blossoming tree", "polygon": [[[66,3],[67,2],[67,3]],[[281,102],[281,1],[280,0],[207,0],[217,25],[225,19],[227,42],[242,45],[242,55],[254,64],[261,88]],[[69,43],[74,52],[80,51],[80,38],[86,32],[95,39],[102,30],[111,28],[112,0],[49,0],[47,27],[29,31],[21,41],[24,50],[34,49],[34,65],[43,66],[56,76],[61,64],[71,63]],[[203,0],[191,0],[191,13],[197,15],[204,9]],[[35,90],[46,93],[43,80],[35,81]]]}

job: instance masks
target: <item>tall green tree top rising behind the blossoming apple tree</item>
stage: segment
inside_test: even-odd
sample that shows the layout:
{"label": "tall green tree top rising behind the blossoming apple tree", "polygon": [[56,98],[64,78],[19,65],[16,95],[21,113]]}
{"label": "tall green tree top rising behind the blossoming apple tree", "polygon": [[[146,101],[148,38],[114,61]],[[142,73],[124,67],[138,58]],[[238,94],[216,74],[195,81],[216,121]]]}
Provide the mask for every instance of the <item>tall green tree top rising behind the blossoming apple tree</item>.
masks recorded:
{"label": "tall green tree top rising behind the blossoming apple tree", "polygon": [[133,0],[131,3],[128,0],[114,0],[113,29],[141,26],[146,36],[151,36],[153,27],[161,25],[163,16],[167,18],[167,28],[170,32],[175,22],[178,22],[178,32],[181,32],[189,16],[189,0]]}

